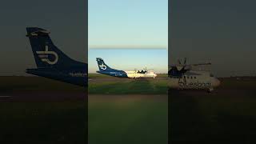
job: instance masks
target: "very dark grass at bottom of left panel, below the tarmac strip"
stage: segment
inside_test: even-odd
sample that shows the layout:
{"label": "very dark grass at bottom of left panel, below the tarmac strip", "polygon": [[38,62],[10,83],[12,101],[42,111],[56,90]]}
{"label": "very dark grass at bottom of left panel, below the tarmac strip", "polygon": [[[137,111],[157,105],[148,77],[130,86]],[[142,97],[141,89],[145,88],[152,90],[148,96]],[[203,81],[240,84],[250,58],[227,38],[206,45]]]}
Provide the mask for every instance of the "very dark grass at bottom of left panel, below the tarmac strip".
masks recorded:
{"label": "very dark grass at bottom of left panel, below the tarmac strip", "polygon": [[85,102],[1,102],[1,143],[86,143]]}

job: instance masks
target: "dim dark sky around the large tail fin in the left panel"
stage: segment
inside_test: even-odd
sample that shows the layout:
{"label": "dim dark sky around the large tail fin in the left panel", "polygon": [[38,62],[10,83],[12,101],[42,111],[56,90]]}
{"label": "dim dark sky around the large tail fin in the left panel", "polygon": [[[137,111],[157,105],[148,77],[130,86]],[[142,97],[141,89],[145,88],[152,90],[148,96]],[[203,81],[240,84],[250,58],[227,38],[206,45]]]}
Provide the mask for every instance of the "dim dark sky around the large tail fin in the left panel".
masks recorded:
{"label": "dim dark sky around the large tail fin in the left panel", "polygon": [[27,26],[50,31],[60,50],[81,62],[87,61],[87,2],[68,0],[2,1],[0,75],[26,75],[35,68]]}

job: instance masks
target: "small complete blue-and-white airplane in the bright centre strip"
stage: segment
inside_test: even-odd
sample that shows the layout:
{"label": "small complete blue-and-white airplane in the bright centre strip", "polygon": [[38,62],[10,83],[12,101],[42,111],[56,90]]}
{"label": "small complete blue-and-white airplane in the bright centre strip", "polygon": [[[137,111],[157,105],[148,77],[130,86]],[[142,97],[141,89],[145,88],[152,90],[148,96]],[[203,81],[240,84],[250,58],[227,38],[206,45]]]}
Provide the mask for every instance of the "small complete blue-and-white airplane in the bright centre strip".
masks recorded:
{"label": "small complete blue-and-white airplane in the bright centre strip", "polygon": [[99,74],[106,74],[113,77],[118,78],[155,78],[157,74],[153,71],[148,70],[133,70],[133,71],[124,71],[124,70],[115,70],[107,66],[106,63],[103,61],[102,58],[96,58],[98,62],[98,71]]}

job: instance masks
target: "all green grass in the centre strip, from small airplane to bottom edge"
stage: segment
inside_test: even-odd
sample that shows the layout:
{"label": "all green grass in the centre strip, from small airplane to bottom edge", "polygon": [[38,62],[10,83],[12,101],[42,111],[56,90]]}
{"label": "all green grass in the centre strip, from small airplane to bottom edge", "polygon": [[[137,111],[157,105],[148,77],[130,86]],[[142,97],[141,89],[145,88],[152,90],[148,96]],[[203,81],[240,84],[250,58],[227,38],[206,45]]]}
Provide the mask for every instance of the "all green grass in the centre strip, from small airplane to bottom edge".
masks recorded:
{"label": "all green grass in the centre strip, from small airplane to bottom edge", "polygon": [[168,88],[166,74],[158,76],[133,80],[89,74],[89,143],[167,143]]}

